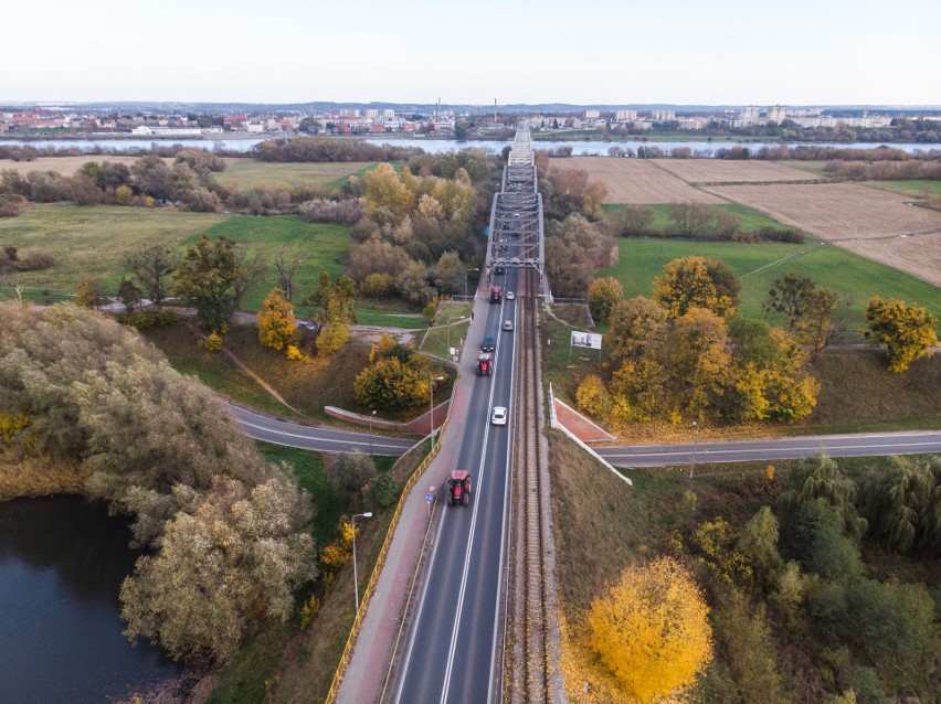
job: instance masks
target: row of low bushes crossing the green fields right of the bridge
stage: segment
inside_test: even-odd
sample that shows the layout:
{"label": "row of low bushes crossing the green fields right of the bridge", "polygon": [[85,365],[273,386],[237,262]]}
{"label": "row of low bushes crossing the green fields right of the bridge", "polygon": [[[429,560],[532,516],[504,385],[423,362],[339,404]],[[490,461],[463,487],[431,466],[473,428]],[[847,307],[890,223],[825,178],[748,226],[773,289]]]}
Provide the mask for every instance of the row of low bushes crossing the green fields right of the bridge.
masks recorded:
{"label": "row of low bushes crossing the green fields right of the bridge", "polygon": [[805,235],[796,227],[764,225],[746,232],[738,213],[691,201],[668,204],[669,225],[653,227],[656,211],[649,205],[628,204],[607,216],[609,232],[615,237],[684,237],[720,242],[783,242],[803,244]]}

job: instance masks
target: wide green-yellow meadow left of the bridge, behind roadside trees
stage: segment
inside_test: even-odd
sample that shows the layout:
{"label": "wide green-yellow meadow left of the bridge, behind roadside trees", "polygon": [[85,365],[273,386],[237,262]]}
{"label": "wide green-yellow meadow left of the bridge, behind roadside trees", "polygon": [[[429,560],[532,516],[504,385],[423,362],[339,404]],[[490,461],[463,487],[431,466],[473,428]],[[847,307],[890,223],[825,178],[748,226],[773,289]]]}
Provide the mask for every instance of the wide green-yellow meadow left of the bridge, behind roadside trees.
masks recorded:
{"label": "wide green-yellow meadow left of the bridge, behind roadside trees", "polygon": [[[67,203],[31,205],[19,217],[0,220],[0,244],[19,247],[21,255],[45,253],[56,265],[43,271],[22,275],[32,298],[49,290],[66,295],[88,277],[102,279],[106,294],[117,289],[126,269],[125,252],[146,244],[168,244],[182,248],[200,235],[225,235],[250,247],[262,249],[271,265],[279,245],[288,256],[299,254],[298,291],[314,288],[320,270],[332,276],[343,269],[340,259],[349,247],[349,228],[339,225],[310,225],[299,217],[220,215],[175,210],[148,210],[117,205],[82,206]],[[245,310],[258,310],[267,291],[275,285],[275,271],[243,303]]]}

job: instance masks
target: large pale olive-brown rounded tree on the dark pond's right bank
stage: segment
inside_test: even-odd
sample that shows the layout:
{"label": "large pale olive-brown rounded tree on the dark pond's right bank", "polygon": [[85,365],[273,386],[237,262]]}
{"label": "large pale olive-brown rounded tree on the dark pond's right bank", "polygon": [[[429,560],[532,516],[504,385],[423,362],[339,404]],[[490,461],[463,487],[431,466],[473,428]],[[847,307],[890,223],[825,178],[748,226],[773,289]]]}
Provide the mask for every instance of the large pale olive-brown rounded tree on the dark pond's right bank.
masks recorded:
{"label": "large pale olive-brown rounded tree on the dark pond's right bank", "polygon": [[253,621],[286,621],[294,589],[317,574],[306,492],[287,478],[249,489],[218,479],[193,514],[168,525],[156,556],[137,561],[120,589],[125,633],[175,659],[220,662]]}

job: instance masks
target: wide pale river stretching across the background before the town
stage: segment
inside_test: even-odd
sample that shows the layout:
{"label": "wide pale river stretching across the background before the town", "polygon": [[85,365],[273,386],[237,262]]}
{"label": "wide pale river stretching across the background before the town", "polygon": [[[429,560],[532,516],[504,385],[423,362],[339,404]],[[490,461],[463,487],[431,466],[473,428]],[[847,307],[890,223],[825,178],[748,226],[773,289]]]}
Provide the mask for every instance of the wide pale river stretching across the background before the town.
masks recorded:
{"label": "wide pale river stretching across the background before the town", "polygon": [[[257,145],[258,142],[264,141],[265,139],[273,139],[277,137],[276,135],[272,135],[271,137],[265,137],[264,139],[252,137],[246,139],[165,139],[165,140],[152,140],[152,139],[47,139],[47,140],[21,140],[21,139],[2,139],[0,140],[0,145],[30,145],[38,149],[52,147],[55,149],[70,149],[70,148],[78,148],[83,151],[96,151],[96,150],[105,150],[105,151],[115,151],[115,152],[124,152],[124,153],[135,153],[141,149],[150,149],[150,147],[155,143],[157,145],[184,145],[187,147],[194,147],[200,149],[209,149],[213,150],[216,148],[225,149],[230,151],[240,151],[247,152]],[[369,139],[369,141],[373,141],[377,145],[391,145],[393,147],[420,147],[433,154],[446,153],[448,151],[459,151],[461,149],[483,149],[490,153],[499,152],[504,147],[510,145],[509,141],[495,141],[495,140],[467,140],[467,141],[457,141],[456,139],[384,139],[384,138],[376,138]],[[584,156],[594,156],[599,154],[602,157],[607,156],[607,150],[612,147],[620,147],[622,149],[637,149],[637,147],[658,147],[663,149],[665,152],[669,153],[673,149],[679,149],[681,147],[688,147],[692,150],[692,152],[697,156],[702,157],[711,157],[719,149],[731,149],[732,147],[748,147],[752,151],[757,151],[761,147],[776,147],[782,145],[775,145],[772,142],[749,142],[749,141],[537,141],[533,142],[533,147],[536,149],[559,149],[562,147],[571,147],[572,154],[575,157],[584,157]],[[800,142],[787,142],[787,147],[800,147]],[[874,147],[878,147],[876,143],[864,143],[856,142],[852,145],[847,145],[845,142],[842,143],[829,143],[829,142],[813,142],[810,146],[816,147],[836,147],[836,148],[856,148],[856,149],[870,149]],[[941,145],[922,145],[922,143],[892,143],[889,145],[896,149],[903,149],[905,151],[911,153],[913,151],[928,151],[931,149],[941,149]]]}

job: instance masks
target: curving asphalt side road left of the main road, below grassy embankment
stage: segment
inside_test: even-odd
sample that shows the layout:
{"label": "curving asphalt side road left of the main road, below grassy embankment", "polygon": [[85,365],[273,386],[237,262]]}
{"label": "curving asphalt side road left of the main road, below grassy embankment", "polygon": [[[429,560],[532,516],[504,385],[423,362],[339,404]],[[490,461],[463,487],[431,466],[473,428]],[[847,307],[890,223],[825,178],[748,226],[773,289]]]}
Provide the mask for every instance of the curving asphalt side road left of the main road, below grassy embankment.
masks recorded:
{"label": "curving asphalt side road left of the main road, below grassy embankment", "polygon": [[368,455],[399,457],[408,452],[417,441],[414,438],[389,438],[368,433],[298,425],[287,420],[276,420],[246,410],[235,404],[229,404],[229,407],[239,418],[249,437],[317,452],[353,452],[359,450]]}

